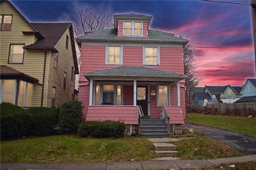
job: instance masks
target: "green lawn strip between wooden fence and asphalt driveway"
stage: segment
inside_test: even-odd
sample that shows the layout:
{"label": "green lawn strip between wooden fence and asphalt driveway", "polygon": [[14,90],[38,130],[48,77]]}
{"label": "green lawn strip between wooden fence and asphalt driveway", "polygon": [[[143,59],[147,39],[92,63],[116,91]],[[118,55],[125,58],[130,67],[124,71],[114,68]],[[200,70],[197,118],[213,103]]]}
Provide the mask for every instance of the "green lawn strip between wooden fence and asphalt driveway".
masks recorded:
{"label": "green lawn strip between wooden fence and asphalt driveway", "polygon": [[186,114],[186,123],[217,127],[256,137],[256,118]]}

